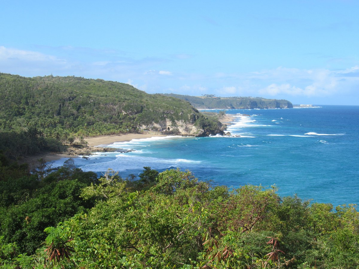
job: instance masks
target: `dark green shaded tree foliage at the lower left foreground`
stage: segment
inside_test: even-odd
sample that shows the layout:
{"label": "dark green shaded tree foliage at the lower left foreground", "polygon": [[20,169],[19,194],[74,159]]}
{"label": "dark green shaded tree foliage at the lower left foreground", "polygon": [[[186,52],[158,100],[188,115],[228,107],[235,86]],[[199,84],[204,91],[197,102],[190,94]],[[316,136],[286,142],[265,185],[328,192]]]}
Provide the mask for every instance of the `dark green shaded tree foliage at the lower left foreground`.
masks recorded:
{"label": "dark green shaded tree foliage at the lower left foreground", "polygon": [[16,164],[1,167],[9,171],[0,179],[0,232],[5,242],[16,243],[21,252],[33,253],[44,240],[46,227],[93,206],[94,200],[85,201],[79,195],[96,179],[95,174],[71,164],[70,159],[43,178],[41,173],[26,171],[17,178]]}

